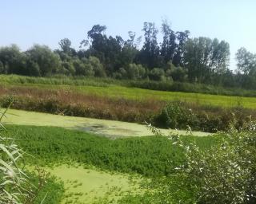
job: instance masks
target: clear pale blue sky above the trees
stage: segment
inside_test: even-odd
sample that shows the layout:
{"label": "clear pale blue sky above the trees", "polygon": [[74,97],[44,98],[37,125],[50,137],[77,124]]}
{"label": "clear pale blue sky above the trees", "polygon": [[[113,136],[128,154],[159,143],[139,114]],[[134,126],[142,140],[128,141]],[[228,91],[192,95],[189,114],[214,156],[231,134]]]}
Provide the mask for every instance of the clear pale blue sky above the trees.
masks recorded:
{"label": "clear pale blue sky above the trees", "polygon": [[163,18],[174,31],[190,30],[190,37],[229,42],[230,69],[240,47],[256,53],[254,0],[0,0],[0,46],[26,50],[38,43],[58,49],[58,41],[68,37],[78,49],[96,24],[126,39],[130,30],[142,35],[143,22],[160,29]]}

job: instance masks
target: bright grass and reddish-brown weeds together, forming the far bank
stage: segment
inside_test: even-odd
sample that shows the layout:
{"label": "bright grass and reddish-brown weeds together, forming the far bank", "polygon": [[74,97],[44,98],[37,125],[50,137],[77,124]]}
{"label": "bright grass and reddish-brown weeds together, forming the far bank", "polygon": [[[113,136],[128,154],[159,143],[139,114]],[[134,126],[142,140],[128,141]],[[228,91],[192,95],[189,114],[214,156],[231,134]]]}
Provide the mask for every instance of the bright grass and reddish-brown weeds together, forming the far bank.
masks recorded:
{"label": "bright grass and reddish-brown weeds together, forming the far bank", "polygon": [[[190,126],[193,131],[207,132],[226,131],[234,119],[238,121],[236,124],[238,128],[242,128],[249,117],[256,120],[255,98],[249,97],[194,93],[181,93],[178,96],[179,92],[160,92],[122,86],[114,88],[114,86],[33,85],[35,86],[0,87],[0,105],[8,107],[13,101],[12,108],[26,111],[139,124],[145,124],[146,121],[158,128],[186,130]],[[172,94],[176,96],[168,96]],[[161,99],[166,96],[169,98]],[[246,104],[252,108],[246,108]]]}

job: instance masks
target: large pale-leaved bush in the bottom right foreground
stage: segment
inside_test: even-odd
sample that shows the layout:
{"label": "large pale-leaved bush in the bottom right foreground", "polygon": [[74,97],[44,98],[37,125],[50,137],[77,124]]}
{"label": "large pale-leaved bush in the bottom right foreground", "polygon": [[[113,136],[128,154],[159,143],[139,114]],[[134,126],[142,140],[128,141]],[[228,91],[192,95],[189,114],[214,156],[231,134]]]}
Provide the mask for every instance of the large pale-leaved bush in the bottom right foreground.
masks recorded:
{"label": "large pale-leaved bush in the bottom right foreground", "polygon": [[245,124],[242,131],[232,127],[222,133],[221,143],[206,151],[171,137],[186,152],[186,163],[177,169],[187,178],[196,203],[256,202],[255,130],[253,122]]}

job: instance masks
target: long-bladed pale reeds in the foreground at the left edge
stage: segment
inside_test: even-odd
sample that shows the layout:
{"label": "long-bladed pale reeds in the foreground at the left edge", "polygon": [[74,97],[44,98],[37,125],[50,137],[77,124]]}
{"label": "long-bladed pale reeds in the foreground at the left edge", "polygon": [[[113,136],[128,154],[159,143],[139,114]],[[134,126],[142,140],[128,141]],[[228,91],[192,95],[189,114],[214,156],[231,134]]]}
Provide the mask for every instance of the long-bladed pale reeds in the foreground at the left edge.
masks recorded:
{"label": "long-bladed pale reeds in the foreground at the left edge", "polygon": [[5,130],[0,112],[0,203],[33,203],[37,188],[25,174],[22,150],[14,144],[14,139],[3,135]]}

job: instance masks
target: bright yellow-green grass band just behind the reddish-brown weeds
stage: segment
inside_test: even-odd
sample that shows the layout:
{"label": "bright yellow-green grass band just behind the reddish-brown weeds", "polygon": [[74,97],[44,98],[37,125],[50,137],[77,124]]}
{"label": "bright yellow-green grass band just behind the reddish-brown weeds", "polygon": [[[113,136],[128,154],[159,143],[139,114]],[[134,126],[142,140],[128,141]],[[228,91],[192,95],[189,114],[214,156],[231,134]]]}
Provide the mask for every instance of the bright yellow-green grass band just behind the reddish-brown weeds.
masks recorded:
{"label": "bright yellow-green grass band just behind the reddish-brown weeds", "polygon": [[[36,82],[36,81],[35,81]],[[88,83],[90,84],[90,83]],[[210,106],[220,107],[236,107],[242,105],[244,108],[255,108],[255,97],[242,97],[242,96],[218,96],[202,93],[191,92],[165,92],[154,91],[142,88],[124,87],[122,85],[108,84],[102,86],[101,84],[93,85],[66,85],[66,84],[38,84],[26,83],[26,84],[6,84],[8,87],[29,87],[29,88],[44,88],[44,89],[66,89],[72,92],[80,92],[86,95],[97,95],[110,98],[124,98],[129,100],[181,100],[189,103],[196,103]]]}

